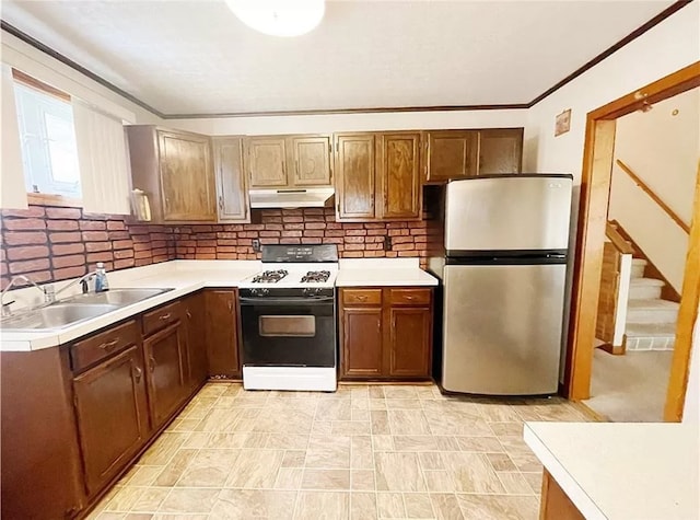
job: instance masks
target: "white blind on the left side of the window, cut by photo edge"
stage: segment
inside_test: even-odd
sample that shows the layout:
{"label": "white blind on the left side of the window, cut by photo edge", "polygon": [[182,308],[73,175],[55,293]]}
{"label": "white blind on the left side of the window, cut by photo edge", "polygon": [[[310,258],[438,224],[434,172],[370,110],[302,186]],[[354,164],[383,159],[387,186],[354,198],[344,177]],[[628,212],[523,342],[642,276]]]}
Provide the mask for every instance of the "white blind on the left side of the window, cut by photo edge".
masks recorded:
{"label": "white blind on the left side of the window, cut by photo edge", "polygon": [[20,126],[14,102],[12,68],[2,63],[2,149],[0,150],[0,207],[24,209],[26,187],[20,146]]}

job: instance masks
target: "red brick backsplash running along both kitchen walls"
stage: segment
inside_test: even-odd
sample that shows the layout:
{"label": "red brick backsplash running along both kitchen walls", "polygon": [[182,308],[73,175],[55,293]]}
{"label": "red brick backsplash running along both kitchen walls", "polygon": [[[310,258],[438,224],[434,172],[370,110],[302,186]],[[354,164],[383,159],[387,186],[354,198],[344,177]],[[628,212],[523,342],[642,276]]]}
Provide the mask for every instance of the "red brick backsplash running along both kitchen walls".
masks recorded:
{"label": "red brick backsplash running along both kitchen walls", "polygon": [[[331,208],[254,210],[249,224],[130,224],[80,208],[2,210],[1,287],[15,275],[36,282],[74,278],[104,262],[108,270],[168,259],[255,259],[260,244],[338,244],[343,258],[420,257],[442,230],[434,221],[336,222]],[[390,249],[385,250],[385,238]]]}

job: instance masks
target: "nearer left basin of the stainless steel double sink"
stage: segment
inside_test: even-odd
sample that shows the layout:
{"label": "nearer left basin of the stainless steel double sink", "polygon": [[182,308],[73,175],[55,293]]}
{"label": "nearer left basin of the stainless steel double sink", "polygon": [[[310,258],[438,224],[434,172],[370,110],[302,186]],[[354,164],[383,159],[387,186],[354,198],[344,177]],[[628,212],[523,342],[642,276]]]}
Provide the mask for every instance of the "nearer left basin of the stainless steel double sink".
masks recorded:
{"label": "nearer left basin of the stainless steel double sink", "polygon": [[0,321],[3,331],[36,331],[42,328],[63,328],[75,323],[97,317],[119,309],[109,304],[55,303],[34,309]]}

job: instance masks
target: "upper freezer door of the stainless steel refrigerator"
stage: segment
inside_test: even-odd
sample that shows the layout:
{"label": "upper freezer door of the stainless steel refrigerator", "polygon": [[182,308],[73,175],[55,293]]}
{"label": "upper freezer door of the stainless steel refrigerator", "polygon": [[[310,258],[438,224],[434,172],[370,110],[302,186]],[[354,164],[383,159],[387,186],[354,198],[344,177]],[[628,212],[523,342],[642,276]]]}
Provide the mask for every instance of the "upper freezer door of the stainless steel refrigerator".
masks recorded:
{"label": "upper freezer door of the stainless steel refrigerator", "polygon": [[565,250],[571,178],[546,175],[475,177],[447,185],[445,249]]}

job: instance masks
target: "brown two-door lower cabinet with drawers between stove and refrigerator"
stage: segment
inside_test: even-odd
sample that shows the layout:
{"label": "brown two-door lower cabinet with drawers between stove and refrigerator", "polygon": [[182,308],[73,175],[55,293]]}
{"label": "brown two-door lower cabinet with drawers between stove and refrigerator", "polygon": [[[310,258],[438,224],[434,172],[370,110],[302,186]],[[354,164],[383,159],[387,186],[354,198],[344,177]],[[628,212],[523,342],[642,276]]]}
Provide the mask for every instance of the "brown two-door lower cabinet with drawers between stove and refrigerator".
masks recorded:
{"label": "brown two-door lower cabinet with drawers between stove and refrigerator", "polygon": [[340,289],[342,379],[430,379],[432,289]]}

